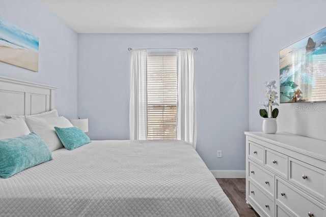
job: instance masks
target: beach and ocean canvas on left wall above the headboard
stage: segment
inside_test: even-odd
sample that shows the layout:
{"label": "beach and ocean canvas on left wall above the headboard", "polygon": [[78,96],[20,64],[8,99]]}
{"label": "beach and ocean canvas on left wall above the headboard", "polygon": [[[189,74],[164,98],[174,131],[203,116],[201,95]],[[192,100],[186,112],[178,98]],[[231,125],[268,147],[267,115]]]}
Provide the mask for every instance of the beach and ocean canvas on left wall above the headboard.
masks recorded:
{"label": "beach and ocean canvas on left wall above the headboard", "polygon": [[0,17],[0,61],[38,72],[39,38]]}

